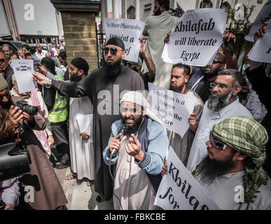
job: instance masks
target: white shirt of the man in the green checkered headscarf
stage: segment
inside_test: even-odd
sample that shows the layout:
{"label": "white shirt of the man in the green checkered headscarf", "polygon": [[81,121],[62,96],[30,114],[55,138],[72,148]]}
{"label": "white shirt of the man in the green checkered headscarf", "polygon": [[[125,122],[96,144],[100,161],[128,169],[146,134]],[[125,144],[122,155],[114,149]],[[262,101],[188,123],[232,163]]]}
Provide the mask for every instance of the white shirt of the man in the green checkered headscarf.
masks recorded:
{"label": "white shirt of the man in the green checkered headscarf", "polygon": [[[224,174],[218,176],[211,183],[204,183],[200,180],[200,175],[196,176],[200,185],[207,190],[211,200],[213,200],[219,208],[223,210],[239,209],[239,202],[244,202],[243,176],[245,172],[236,172],[232,174]],[[249,203],[249,210],[270,210],[271,209],[271,182],[270,179],[267,185],[262,185],[258,189],[260,193],[256,193],[254,202]],[[246,209],[247,204],[243,203],[240,210]]]}

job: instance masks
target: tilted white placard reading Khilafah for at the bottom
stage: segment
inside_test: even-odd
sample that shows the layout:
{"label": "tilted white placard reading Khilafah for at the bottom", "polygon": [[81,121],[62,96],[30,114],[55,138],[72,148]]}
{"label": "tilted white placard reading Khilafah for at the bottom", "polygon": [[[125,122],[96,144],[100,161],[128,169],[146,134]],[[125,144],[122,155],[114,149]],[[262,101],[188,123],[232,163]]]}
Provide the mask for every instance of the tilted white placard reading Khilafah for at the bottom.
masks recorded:
{"label": "tilted white placard reading Khilafah for at the bottom", "polygon": [[220,210],[172,147],[169,147],[167,174],[162,178],[154,204],[165,210]]}

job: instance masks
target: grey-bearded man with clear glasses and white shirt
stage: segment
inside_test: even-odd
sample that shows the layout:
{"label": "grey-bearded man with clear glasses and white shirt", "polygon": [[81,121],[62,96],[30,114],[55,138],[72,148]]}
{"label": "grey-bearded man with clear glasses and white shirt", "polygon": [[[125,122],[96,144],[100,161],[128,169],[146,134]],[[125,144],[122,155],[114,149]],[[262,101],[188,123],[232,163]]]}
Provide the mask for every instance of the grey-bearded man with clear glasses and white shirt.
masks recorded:
{"label": "grey-bearded man with clear glasses and white shirt", "polygon": [[251,113],[239,103],[237,94],[241,91],[244,77],[234,69],[218,72],[212,85],[211,95],[204,104],[202,117],[187,162],[187,168],[197,164],[207,155],[205,142],[214,124],[230,116],[246,116],[253,118]]}

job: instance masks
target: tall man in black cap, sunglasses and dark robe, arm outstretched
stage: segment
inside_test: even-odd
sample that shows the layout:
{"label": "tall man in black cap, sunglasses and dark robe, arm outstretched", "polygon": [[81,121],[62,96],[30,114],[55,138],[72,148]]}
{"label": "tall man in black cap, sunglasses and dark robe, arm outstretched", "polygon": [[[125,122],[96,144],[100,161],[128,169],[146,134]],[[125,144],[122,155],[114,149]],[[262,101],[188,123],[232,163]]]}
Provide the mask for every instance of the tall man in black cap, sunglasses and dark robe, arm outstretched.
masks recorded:
{"label": "tall man in black cap, sunglasses and dark robe, arm outstretched", "polygon": [[113,37],[104,47],[102,68],[95,69],[79,82],[51,80],[41,73],[33,73],[41,85],[53,85],[62,94],[69,97],[90,97],[93,104],[93,132],[95,156],[95,191],[96,200],[110,200],[113,195],[113,181],[109,166],[104,164],[102,152],[108,145],[111,124],[120,118],[119,102],[123,90],[144,91],[144,83],[139,74],[123,66],[125,45],[120,38]]}

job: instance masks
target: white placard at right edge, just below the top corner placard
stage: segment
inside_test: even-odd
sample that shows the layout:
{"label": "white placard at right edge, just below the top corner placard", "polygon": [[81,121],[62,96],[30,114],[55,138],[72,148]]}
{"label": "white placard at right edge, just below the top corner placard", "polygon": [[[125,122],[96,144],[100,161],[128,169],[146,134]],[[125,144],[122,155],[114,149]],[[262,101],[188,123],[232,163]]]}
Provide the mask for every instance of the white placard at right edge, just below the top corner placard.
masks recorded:
{"label": "white placard at right edge, just below the top corner placard", "polygon": [[255,62],[271,63],[271,22],[268,22],[265,36],[258,38],[247,56]]}

